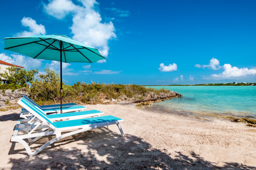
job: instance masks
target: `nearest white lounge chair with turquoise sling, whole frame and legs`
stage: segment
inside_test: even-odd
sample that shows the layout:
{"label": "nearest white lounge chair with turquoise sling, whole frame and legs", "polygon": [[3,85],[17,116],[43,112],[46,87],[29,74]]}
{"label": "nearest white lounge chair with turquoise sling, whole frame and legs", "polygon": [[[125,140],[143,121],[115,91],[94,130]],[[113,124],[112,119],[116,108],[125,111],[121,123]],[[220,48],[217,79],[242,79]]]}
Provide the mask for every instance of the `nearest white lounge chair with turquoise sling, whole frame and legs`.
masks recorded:
{"label": "nearest white lounge chair with turquoise sling, whole frame and legs", "polygon": [[[67,136],[71,136],[76,133],[81,133],[87,130],[91,130],[91,129],[99,128],[103,126],[116,124],[122,136],[125,136],[119,124],[120,122],[123,122],[123,119],[119,119],[114,116],[100,116],[100,117],[93,117],[93,118],[87,118],[87,119],[75,119],[75,120],[67,120],[67,121],[60,121],[60,122],[52,122],[43,113],[41,108],[35,107],[31,103],[25,101],[23,98],[21,98],[18,101],[18,104],[26,108],[27,111],[35,115],[35,117],[41,121],[41,123],[38,123],[38,125],[36,125],[33,128],[31,126],[15,128],[14,135],[11,138],[11,142],[19,142],[20,144],[22,144],[25,147],[29,156],[35,156],[36,154],[41,152],[41,150],[43,150],[45,147]],[[74,130],[74,131],[61,134],[63,130]],[[23,132],[25,134],[19,134],[19,132]],[[32,143],[37,141],[43,136],[50,136],[50,135],[55,135],[56,137],[50,140],[49,142],[43,144],[34,152],[32,152],[29,145],[24,140],[24,139],[28,139],[28,141]]]}

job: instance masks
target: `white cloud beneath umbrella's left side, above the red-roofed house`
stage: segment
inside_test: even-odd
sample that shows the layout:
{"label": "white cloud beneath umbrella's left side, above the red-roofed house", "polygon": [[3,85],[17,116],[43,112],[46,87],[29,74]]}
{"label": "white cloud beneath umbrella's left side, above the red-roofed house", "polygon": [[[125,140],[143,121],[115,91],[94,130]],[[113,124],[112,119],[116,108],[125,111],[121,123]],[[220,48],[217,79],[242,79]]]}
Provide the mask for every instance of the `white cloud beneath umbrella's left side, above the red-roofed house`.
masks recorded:
{"label": "white cloud beneath umbrella's left side, above the red-roofed house", "polygon": [[31,57],[25,57],[23,55],[17,54],[11,54],[11,56],[8,56],[6,54],[1,53],[0,60],[4,62],[9,62],[14,65],[22,66],[28,70],[32,68],[39,68],[42,65],[40,59],[32,59]]}

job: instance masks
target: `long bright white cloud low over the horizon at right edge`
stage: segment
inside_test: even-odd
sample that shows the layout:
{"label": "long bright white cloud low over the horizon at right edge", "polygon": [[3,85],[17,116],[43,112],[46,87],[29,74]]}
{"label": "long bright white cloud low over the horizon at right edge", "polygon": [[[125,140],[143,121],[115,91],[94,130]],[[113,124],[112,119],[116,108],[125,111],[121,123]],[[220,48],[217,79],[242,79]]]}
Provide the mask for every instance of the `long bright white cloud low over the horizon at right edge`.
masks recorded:
{"label": "long bright white cloud low over the horizon at right edge", "polygon": [[204,77],[205,79],[233,79],[239,77],[247,77],[250,75],[256,75],[256,68],[237,68],[232,67],[230,64],[223,65],[224,71],[220,74],[211,74],[210,77]]}

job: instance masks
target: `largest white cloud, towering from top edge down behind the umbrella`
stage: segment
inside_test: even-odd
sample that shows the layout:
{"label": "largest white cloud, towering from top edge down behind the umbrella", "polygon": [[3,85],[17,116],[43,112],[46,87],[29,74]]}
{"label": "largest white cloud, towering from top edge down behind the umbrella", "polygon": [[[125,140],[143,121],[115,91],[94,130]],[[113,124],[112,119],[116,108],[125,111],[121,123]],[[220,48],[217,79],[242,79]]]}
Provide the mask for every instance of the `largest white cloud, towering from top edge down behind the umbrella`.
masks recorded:
{"label": "largest white cloud, towering from top edge down behind the umbrella", "polygon": [[[99,48],[100,53],[107,57],[108,41],[116,38],[113,23],[111,21],[102,23],[101,15],[95,10],[95,6],[98,5],[96,0],[79,1],[82,4],[81,6],[74,4],[71,0],[50,0],[47,5],[44,5],[44,8],[47,14],[58,19],[64,18],[67,14],[72,14],[73,24],[70,29],[73,39]],[[61,5],[57,6],[55,4]]]}

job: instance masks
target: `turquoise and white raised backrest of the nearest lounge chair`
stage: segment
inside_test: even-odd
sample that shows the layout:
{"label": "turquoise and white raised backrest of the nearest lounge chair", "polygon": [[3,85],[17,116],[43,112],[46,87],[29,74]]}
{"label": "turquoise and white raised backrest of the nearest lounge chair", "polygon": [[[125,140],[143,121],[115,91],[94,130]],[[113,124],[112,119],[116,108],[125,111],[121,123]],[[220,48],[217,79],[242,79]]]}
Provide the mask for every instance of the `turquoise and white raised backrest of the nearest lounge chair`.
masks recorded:
{"label": "turquoise and white raised backrest of the nearest lounge chair", "polygon": [[55,126],[52,124],[52,122],[47,118],[47,116],[43,113],[43,111],[40,108],[35,107],[31,103],[27,102],[23,98],[21,98],[18,101],[18,104],[23,106],[27,111],[35,115],[38,119],[40,119],[42,122],[47,124],[52,129],[55,129]]}

